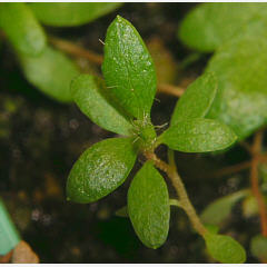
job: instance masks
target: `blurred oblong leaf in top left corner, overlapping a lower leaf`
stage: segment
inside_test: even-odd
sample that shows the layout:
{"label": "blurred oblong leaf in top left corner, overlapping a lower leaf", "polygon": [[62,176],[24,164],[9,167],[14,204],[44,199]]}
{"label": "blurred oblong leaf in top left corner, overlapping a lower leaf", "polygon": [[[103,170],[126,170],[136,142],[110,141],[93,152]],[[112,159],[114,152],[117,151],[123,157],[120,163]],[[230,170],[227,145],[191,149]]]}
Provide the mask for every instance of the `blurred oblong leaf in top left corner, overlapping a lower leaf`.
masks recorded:
{"label": "blurred oblong leaf in top left corner, overlapping a lower leaf", "polygon": [[21,53],[37,56],[46,47],[44,32],[26,3],[1,3],[0,28]]}

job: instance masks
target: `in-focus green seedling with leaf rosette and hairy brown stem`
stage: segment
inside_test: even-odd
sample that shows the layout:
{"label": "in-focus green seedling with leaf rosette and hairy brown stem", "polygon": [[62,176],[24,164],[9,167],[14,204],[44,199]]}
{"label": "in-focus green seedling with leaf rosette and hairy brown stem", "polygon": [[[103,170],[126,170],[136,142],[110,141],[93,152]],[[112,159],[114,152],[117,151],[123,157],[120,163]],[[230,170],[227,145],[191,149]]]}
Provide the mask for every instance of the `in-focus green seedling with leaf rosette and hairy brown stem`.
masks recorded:
{"label": "in-focus green seedling with leaf rosette and hairy brown stem", "polygon": [[[149,248],[160,247],[169,230],[170,204],[181,207],[209,254],[220,263],[244,263],[246,253],[231,237],[208,230],[196,214],[177,172],[174,150],[208,152],[226,149],[237,137],[222,122],[207,119],[217,96],[217,79],[206,72],[191,83],[177,102],[170,126],[160,136],[151,122],[157,79],[152,59],[137,30],[117,17],[105,40],[105,81],[82,75],[71,83],[73,100],[93,122],[121,137],[88,148],[73,165],[67,180],[68,200],[88,204],[118,188],[139,155],[147,161],[134,177],[127,197],[127,212],[139,239]],[[155,149],[168,146],[169,162]],[[177,191],[170,200],[161,174]]]}

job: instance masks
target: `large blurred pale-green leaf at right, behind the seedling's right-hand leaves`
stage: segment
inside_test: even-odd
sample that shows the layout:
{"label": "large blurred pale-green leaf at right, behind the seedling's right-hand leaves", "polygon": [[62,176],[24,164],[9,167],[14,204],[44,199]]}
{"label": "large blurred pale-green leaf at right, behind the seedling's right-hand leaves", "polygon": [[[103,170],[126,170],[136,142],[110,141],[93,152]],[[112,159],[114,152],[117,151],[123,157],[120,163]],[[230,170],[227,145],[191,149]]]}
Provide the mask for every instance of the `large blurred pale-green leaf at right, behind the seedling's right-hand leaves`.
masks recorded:
{"label": "large blurred pale-green leaf at right, behind the seedling's right-hand leaves", "polygon": [[218,79],[218,93],[206,117],[228,125],[239,139],[267,121],[266,28],[261,18],[255,19],[220,47],[206,69]]}

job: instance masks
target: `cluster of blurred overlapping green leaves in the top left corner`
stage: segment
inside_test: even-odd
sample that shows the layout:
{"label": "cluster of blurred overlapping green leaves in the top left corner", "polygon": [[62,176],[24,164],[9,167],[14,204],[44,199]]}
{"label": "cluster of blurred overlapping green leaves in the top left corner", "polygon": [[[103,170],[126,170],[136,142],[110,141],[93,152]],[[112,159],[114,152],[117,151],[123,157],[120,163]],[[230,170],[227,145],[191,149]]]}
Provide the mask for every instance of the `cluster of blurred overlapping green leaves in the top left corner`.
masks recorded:
{"label": "cluster of blurred overlapping green leaves in the top left corner", "polygon": [[26,79],[61,102],[72,101],[71,80],[80,73],[76,63],[48,43],[41,26],[78,27],[115,10],[121,3],[22,3],[0,4],[0,28],[19,59]]}

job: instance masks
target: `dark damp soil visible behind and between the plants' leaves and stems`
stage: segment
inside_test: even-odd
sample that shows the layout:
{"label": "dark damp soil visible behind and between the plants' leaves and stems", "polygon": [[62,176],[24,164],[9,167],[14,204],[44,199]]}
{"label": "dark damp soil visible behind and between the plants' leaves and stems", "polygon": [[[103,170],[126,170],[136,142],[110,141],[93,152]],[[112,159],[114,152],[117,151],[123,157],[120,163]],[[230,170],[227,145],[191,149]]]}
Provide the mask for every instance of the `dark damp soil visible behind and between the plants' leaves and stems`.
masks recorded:
{"label": "dark damp soil visible behind and between the plants' leaves and stems", "polygon": [[[119,10],[79,28],[46,28],[47,32],[102,52],[99,39],[117,13],[129,19],[146,42],[156,38],[171,57],[174,83],[197,77],[209,56],[181,68],[191,53],[177,39],[182,17],[195,3],[126,3]],[[132,175],[108,197],[90,205],[66,200],[65,187],[71,166],[92,144],[113,137],[83,116],[75,105],[62,105],[29,85],[10,47],[0,48],[0,195],[21,234],[41,263],[212,263],[204,240],[196,235],[178,208],[171,208],[166,244],[146,248],[136,237],[128,218],[116,210],[126,205]],[[159,70],[160,71],[160,70]],[[171,70],[170,70],[171,71]],[[155,125],[171,116],[177,98],[158,95],[152,107]],[[158,156],[166,158],[159,147]],[[248,185],[248,174],[216,177],[217,170],[248,158],[241,147],[217,155],[176,154],[177,166],[198,212],[217,197]],[[169,185],[169,194],[175,191]],[[249,230],[248,230],[249,229]],[[257,218],[244,219],[237,206],[221,228],[248,248],[258,231]],[[248,263],[256,260],[248,255]]]}

